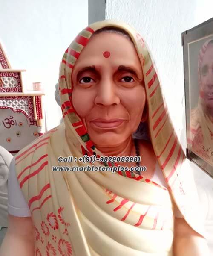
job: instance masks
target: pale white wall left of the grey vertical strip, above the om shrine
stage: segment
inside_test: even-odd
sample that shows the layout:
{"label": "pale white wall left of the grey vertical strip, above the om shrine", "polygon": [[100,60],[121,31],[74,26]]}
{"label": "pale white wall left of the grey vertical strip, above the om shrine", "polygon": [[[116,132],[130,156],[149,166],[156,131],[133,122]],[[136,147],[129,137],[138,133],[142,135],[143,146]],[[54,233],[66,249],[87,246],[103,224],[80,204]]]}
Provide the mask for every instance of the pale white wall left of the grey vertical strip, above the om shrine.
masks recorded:
{"label": "pale white wall left of the grey vertical strip, above the om shrine", "polygon": [[42,82],[47,129],[60,124],[55,84],[63,53],[88,24],[87,0],[0,0],[0,40],[12,68],[26,69],[24,87]]}

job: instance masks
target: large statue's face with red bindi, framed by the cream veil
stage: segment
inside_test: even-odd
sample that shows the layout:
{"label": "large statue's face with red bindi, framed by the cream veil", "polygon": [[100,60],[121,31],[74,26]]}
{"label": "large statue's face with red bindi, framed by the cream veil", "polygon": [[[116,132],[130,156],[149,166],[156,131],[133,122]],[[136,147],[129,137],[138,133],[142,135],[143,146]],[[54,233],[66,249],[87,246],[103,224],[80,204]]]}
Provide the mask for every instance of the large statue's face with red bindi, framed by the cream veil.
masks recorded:
{"label": "large statue's face with red bindi, framed by the cream veil", "polygon": [[146,101],[143,81],[128,38],[101,32],[89,40],[72,72],[72,102],[96,147],[118,146],[136,131]]}

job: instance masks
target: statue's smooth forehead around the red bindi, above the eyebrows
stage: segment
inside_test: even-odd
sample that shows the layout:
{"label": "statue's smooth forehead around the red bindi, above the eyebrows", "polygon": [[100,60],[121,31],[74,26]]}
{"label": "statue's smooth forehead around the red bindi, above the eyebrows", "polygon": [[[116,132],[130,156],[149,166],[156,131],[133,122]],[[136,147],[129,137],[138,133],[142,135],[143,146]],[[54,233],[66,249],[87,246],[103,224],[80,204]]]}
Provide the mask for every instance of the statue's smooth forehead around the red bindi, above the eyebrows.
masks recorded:
{"label": "statue's smooth forehead around the red bindi, above the eyebrows", "polygon": [[[104,52],[109,52],[110,57],[104,58]],[[124,35],[101,32],[92,36],[75,62],[74,70],[89,65],[100,64],[134,65],[141,66],[138,54],[132,42]],[[142,71],[142,70],[141,70]]]}

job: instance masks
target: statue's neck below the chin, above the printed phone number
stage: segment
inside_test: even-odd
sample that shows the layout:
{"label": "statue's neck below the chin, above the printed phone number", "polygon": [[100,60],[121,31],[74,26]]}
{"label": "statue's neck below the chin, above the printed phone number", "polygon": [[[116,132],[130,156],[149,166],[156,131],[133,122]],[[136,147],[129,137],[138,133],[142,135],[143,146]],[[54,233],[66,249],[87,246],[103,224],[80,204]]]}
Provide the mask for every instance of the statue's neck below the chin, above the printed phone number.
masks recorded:
{"label": "statue's neck below the chin, above the printed phone number", "polygon": [[132,136],[119,145],[112,147],[101,147],[95,145],[105,156],[132,156],[134,155],[134,142]]}

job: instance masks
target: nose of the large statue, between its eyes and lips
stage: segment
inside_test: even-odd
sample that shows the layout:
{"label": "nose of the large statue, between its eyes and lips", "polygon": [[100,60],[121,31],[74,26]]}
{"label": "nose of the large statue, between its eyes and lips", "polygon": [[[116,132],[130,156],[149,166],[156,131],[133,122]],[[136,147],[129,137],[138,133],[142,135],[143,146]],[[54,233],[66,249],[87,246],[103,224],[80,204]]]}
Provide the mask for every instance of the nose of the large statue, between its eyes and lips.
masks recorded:
{"label": "nose of the large statue, between its eyes and lips", "polygon": [[111,106],[118,105],[119,103],[120,98],[116,94],[115,83],[110,78],[100,81],[95,97],[95,105]]}

